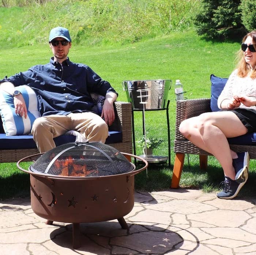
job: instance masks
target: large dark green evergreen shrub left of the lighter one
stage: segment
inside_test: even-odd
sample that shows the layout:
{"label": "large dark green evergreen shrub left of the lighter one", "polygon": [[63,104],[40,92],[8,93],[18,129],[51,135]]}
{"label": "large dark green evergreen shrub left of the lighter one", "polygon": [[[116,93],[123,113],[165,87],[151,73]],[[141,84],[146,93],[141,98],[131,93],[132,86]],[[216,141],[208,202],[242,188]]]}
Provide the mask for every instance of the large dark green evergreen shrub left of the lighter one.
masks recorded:
{"label": "large dark green evergreen shrub left of the lighter one", "polygon": [[241,0],[203,0],[194,24],[198,35],[210,39],[236,39],[245,33],[241,23]]}

